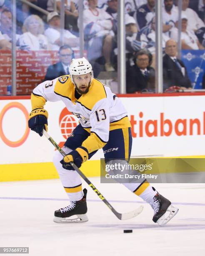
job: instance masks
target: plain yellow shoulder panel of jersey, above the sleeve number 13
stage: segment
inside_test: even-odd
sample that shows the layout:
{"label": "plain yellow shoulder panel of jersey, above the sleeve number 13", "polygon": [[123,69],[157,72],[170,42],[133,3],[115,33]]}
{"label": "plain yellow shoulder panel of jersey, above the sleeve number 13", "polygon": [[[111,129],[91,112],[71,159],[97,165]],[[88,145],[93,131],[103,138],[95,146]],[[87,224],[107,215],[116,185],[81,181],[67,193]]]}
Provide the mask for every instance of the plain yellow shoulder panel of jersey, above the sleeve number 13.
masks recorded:
{"label": "plain yellow shoulder panel of jersey, above the sleeve number 13", "polygon": [[85,108],[92,110],[94,105],[102,99],[106,99],[107,94],[105,85],[97,79],[93,79],[89,91],[82,95],[78,102],[85,106]]}

